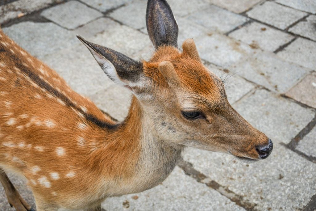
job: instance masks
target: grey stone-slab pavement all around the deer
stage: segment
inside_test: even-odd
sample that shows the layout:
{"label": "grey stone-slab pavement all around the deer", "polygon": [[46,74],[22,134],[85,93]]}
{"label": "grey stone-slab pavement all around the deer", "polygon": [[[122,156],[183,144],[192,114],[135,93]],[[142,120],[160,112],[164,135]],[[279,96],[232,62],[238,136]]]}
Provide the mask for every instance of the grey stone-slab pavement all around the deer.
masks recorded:
{"label": "grey stone-slab pavement all around the deer", "polygon": [[[157,187],[107,199],[110,210],[316,209],[316,1],[169,0],[179,46],[194,38],[206,66],[227,74],[230,103],[274,143],[269,158],[242,164],[188,148]],[[130,93],[110,81],[76,38],[137,59],[153,48],[145,0],[2,0],[3,31],[70,86],[123,120]],[[129,100],[126,100],[129,99]],[[33,198],[20,178],[21,194]],[[9,207],[0,188],[0,210]]]}

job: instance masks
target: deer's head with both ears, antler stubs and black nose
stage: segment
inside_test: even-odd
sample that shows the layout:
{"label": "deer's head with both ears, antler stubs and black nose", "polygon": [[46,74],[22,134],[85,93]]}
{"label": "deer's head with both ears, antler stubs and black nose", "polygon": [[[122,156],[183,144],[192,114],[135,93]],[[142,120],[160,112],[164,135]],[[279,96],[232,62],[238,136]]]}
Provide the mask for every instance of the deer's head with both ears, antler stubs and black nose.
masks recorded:
{"label": "deer's head with both ears, antler stubs and black nose", "polygon": [[194,41],[185,40],[179,51],[178,25],[165,0],[148,1],[146,25],[155,47],[149,61],[78,38],[106,75],[137,97],[160,140],[238,158],[267,158],[271,140],[231,107],[222,81],[203,65]]}

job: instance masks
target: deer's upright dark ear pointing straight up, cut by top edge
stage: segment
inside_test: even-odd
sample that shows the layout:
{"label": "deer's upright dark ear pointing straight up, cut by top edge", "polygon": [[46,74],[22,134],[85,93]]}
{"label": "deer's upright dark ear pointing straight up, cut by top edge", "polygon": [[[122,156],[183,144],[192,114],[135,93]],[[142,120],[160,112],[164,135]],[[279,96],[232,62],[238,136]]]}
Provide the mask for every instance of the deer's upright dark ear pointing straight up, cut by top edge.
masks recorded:
{"label": "deer's upright dark ear pointing straight up, cut by top edge", "polygon": [[146,26],[156,49],[161,45],[178,47],[178,24],[165,0],[148,0]]}

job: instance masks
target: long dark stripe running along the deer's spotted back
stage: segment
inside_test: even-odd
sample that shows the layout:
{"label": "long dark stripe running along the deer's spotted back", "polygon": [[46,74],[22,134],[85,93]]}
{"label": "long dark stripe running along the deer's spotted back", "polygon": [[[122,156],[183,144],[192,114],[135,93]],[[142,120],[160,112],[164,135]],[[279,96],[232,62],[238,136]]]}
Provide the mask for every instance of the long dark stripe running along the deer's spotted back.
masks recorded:
{"label": "long dark stripe running along the deer's spotted back", "polygon": [[82,113],[82,115],[86,118],[87,121],[92,122],[98,127],[107,128],[107,129],[115,129],[119,126],[119,124],[115,124],[115,125],[109,124],[107,122],[99,120],[96,116],[92,114],[88,114],[84,112],[81,108],[78,108],[73,102],[71,102],[66,96],[64,96],[62,93],[55,90],[51,85],[47,84],[45,81],[40,79],[40,77],[36,75],[30,68],[22,65],[23,62],[21,61],[19,57],[17,57],[13,53],[10,53],[10,52],[7,52],[7,53],[9,53],[10,54],[9,57],[15,61],[15,65],[17,66],[17,68],[19,68],[24,74],[26,74],[29,78],[31,78],[35,84],[39,85],[41,88],[45,89],[47,92],[49,92],[53,96],[62,100],[67,106],[72,107],[76,109],[77,111],[79,111],[80,113]]}

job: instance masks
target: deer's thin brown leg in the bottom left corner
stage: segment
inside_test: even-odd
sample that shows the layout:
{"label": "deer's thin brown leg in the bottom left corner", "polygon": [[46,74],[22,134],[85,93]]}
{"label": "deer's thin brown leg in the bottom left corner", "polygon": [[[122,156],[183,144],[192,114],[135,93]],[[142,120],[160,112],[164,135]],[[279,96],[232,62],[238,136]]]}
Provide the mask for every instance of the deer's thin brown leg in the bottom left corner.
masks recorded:
{"label": "deer's thin brown leg in the bottom left corner", "polygon": [[19,194],[17,189],[9,180],[9,177],[0,168],[0,182],[3,185],[5,194],[7,195],[9,204],[11,207],[14,207],[18,211],[35,211]]}

